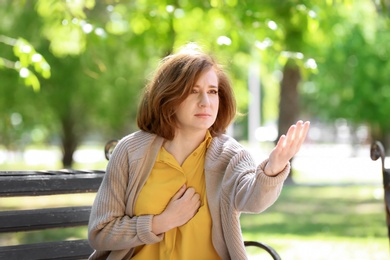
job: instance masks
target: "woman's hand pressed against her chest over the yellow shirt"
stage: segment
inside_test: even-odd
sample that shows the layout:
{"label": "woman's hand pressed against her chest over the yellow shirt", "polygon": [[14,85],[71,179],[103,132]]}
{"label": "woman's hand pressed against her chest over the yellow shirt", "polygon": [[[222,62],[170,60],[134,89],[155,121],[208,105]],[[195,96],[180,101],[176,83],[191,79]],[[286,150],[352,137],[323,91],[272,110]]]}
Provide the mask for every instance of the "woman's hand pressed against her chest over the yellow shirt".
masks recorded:
{"label": "woman's hand pressed against her chest over the yellow shirt", "polygon": [[153,217],[152,231],[156,235],[187,223],[198,212],[200,195],[183,185],[169,201],[166,209]]}

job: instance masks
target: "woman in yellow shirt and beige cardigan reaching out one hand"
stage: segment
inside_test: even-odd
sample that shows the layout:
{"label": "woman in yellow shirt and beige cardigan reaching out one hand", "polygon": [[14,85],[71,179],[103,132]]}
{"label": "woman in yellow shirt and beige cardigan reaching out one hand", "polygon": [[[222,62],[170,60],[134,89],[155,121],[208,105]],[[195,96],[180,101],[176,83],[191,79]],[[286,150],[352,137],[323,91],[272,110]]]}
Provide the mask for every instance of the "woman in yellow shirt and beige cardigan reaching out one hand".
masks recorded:
{"label": "woman in yellow shirt and beige cardigan reaching out one hand", "polygon": [[212,57],[190,49],[163,59],[141,100],[141,130],[118,143],[97,193],[90,259],[246,259],[240,213],[275,202],[309,122],[256,166],[224,134],[235,114]]}

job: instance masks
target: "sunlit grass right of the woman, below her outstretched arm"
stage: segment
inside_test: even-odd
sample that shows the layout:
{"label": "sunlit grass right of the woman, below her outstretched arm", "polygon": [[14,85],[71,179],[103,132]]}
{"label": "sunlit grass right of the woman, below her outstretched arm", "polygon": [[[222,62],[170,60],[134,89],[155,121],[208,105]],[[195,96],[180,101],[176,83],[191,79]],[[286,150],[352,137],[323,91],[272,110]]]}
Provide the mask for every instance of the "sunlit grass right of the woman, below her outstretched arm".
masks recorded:
{"label": "sunlit grass right of the woman, below her outstretched arm", "polygon": [[242,215],[243,235],[272,246],[282,259],[388,259],[381,191],[383,196],[378,186],[286,186],[267,211]]}

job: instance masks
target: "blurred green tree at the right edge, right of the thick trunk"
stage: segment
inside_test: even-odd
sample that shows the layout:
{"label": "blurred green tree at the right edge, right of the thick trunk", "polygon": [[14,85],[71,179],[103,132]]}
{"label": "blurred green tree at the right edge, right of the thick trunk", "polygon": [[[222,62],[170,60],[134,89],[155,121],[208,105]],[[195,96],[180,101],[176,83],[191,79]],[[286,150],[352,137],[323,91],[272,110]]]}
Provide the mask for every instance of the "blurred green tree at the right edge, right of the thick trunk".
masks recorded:
{"label": "blurred green tree at the right edge, right of the thick trunk", "polygon": [[302,86],[302,93],[313,115],[366,124],[371,138],[389,147],[390,33],[388,17],[380,13],[373,2],[361,1],[323,17],[331,40],[322,38],[319,73]]}

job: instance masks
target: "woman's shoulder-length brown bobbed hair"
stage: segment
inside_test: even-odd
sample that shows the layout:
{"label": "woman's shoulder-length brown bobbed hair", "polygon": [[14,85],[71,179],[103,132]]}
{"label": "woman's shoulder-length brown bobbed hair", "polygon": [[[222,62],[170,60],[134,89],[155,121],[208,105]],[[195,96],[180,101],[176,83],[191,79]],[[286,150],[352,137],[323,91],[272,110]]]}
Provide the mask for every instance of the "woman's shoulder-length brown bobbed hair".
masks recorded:
{"label": "woman's shoulder-length brown bobbed hair", "polygon": [[184,50],[165,57],[146,85],[138,109],[141,130],[172,140],[177,126],[176,108],[187,98],[202,72],[213,68],[218,77],[219,109],[212,136],[225,133],[236,115],[236,100],[229,78],[208,54]]}

